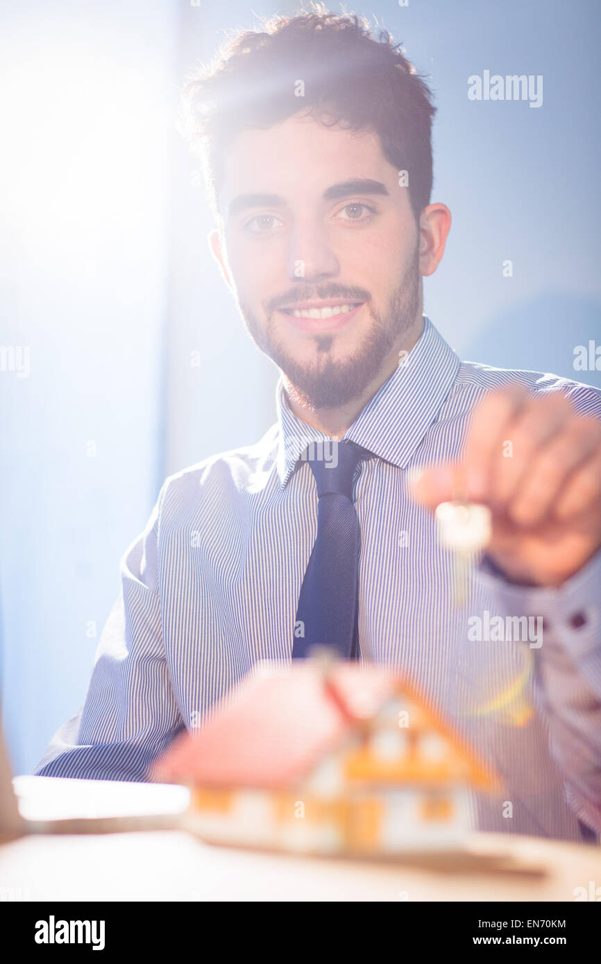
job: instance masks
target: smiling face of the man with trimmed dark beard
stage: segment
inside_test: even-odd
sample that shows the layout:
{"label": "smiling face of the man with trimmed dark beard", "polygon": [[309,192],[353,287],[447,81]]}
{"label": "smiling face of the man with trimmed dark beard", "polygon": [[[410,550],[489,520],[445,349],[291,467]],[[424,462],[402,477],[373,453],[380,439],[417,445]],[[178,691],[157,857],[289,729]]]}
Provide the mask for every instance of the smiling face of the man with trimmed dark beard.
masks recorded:
{"label": "smiling face of the man with trimmed dark beard", "polygon": [[372,132],[295,116],[228,151],[221,256],[248,331],[314,408],[362,395],[421,313],[408,189]]}

